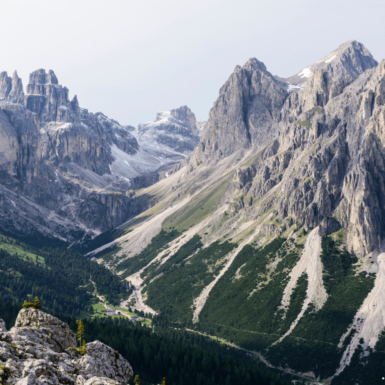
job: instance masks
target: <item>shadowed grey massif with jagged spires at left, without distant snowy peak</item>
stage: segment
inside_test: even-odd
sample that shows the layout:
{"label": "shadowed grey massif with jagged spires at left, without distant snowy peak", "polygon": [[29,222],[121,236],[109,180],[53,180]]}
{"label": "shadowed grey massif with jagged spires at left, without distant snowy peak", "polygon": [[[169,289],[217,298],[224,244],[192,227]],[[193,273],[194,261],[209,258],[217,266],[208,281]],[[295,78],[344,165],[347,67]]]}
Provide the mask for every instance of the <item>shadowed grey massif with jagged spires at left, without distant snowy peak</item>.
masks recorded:
{"label": "shadowed grey massif with jagged spires at left, without distant snowy peak", "polygon": [[[111,165],[119,151],[123,155],[136,153],[136,139],[101,112],[93,114],[80,108],[77,96],[70,101],[68,92],[52,70],[34,71],[26,95],[16,71],[12,79],[6,72],[0,74],[0,183],[5,188],[2,196],[8,195],[9,202],[16,202],[9,209],[7,205],[0,208],[0,217],[3,224],[13,222],[11,227],[6,226],[10,231],[20,227],[16,226],[19,221],[11,218],[16,215],[14,209],[26,209],[26,202],[19,205],[12,193],[30,201],[27,211],[20,212],[21,217],[30,216],[31,224],[39,231],[68,237],[70,220],[74,222],[74,234],[80,230],[79,225],[83,226],[76,208],[90,190],[108,187],[126,191],[130,186],[123,177],[125,170],[116,175]],[[46,229],[45,225],[38,225],[47,223],[47,218],[38,219],[40,214],[36,215],[34,205],[39,205],[40,213],[44,209],[58,213],[59,217],[51,217],[57,226]],[[115,208],[114,213],[118,212]],[[114,215],[107,215],[111,216]],[[117,218],[120,215],[108,223],[118,224]],[[64,233],[63,225],[67,228]],[[103,229],[106,226],[100,224]],[[60,229],[59,233],[55,228]]]}

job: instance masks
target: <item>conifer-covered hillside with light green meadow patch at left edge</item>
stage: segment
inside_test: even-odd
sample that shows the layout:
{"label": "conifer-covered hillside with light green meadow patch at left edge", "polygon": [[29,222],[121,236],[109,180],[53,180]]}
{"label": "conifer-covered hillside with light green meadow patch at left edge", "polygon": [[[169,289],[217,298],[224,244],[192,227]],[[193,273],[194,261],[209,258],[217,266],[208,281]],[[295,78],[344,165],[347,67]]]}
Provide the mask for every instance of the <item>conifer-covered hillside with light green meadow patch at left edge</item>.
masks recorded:
{"label": "conifer-covered hillside with light green meadow patch at left edge", "polygon": [[95,290],[111,304],[130,294],[121,279],[104,266],[70,249],[36,248],[0,236],[0,300],[23,302],[38,296],[47,309],[78,315],[98,301]]}

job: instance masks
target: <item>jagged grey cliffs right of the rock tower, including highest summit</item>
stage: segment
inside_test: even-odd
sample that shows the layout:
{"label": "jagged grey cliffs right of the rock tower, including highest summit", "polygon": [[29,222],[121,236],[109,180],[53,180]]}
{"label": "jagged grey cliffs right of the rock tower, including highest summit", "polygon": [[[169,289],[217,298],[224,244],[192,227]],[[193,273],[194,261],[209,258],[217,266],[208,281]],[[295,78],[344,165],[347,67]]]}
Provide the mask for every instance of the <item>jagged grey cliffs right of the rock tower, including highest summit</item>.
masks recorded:
{"label": "jagged grey cliffs right of the rock tower, including highest summit", "polygon": [[[313,229],[333,217],[348,229],[349,249],[361,256],[378,250],[385,235],[385,61],[377,65],[351,41],[320,62],[314,72],[302,71],[308,75],[303,87],[290,89],[274,140],[262,141],[259,154],[254,144],[252,165],[235,172],[235,194],[249,198],[234,207],[251,219],[272,211],[281,225],[264,227],[266,234],[294,222]],[[252,146],[246,132],[238,137]]]}

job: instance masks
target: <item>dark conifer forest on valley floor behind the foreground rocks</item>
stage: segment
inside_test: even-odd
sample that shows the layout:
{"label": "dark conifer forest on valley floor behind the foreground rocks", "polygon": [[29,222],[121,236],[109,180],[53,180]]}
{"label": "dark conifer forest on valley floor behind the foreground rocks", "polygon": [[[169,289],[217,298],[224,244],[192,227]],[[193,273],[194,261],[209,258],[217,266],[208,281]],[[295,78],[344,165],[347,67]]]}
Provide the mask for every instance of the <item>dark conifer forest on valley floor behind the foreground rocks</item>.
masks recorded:
{"label": "dark conifer forest on valley floor behind the foreground rocks", "polygon": [[[13,326],[20,305],[0,302],[0,317],[7,328]],[[54,314],[77,330],[76,318]],[[126,318],[84,319],[85,340],[99,340],[127,359],[142,385],[159,383],[166,377],[170,385],[289,385],[246,352],[221,345],[209,337],[162,327],[156,320],[155,332]],[[133,383],[133,378],[130,384]]]}

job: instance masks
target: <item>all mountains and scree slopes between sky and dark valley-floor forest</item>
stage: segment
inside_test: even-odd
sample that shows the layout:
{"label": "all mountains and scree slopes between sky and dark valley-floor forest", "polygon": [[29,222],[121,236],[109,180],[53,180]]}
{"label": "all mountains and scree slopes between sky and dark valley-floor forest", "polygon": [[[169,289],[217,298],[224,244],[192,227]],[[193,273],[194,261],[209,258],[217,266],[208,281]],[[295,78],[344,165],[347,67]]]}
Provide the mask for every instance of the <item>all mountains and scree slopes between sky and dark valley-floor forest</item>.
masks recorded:
{"label": "all mountains and scree slopes between sky and dark valley-floor forest", "polygon": [[385,60],[354,40],[290,78],[249,59],[207,122],[120,125],[42,69],[26,92],[1,73],[0,106],[3,235],[58,239],[132,288],[122,309],[296,379],[383,383]]}

